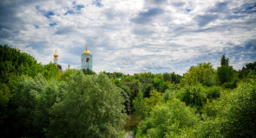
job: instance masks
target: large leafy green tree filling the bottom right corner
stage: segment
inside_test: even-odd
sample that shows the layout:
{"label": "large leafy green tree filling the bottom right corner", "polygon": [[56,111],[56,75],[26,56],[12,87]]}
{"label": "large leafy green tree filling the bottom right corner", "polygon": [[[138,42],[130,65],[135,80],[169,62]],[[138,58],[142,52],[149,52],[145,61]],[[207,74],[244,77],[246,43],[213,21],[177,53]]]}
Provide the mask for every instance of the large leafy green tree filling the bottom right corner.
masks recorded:
{"label": "large leafy green tree filling the bottom right corner", "polygon": [[256,81],[242,82],[229,97],[223,134],[226,137],[253,137],[256,135]]}

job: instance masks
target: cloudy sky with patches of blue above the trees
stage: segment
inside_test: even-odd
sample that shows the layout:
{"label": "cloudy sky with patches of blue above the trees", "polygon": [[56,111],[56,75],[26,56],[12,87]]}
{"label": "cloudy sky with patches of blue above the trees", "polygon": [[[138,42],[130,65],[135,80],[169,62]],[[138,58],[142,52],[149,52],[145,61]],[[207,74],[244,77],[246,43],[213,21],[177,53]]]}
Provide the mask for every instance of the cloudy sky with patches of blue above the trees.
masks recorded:
{"label": "cloudy sky with patches of blue above the trees", "polygon": [[223,53],[239,70],[256,61],[255,0],[1,0],[0,44],[43,65],[57,49],[62,69],[81,68],[88,43],[93,71],[175,72]]}

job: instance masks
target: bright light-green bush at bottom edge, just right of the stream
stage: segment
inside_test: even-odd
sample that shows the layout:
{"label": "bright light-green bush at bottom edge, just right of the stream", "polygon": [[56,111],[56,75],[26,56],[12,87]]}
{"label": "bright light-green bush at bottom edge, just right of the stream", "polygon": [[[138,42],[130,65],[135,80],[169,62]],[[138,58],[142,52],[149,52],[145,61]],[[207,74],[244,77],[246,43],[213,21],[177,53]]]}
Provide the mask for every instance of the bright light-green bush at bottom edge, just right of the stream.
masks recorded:
{"label": "bright light-green bush at bottom edge, just right of the stream", "polygon": [[199,122],[194,110],[180,100],[157,104],[138,127],[136,137],[179,137],[183,129],[193,128]]}

